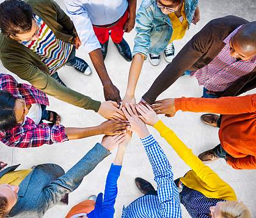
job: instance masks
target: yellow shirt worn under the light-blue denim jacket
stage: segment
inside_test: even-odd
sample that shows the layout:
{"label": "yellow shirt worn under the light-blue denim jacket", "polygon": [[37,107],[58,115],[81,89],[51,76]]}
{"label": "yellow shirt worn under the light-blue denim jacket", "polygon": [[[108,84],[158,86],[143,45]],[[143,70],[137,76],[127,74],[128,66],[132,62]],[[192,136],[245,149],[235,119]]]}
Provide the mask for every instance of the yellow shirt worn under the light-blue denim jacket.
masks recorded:
{"label": "yellow shirt worn under the light-blue denim jacket", "polygon": [[184,3],[181,9],[181,16],[183,21],[181,22],[178,19],[175,13],[169,13],[170,22],[172,23],[172,37],[170,38],[169,44],[172,43],[174,40],[181,40],[185,36],[186,30],[188,29],[188,21],[186,19],[186,13],[184,9]]}

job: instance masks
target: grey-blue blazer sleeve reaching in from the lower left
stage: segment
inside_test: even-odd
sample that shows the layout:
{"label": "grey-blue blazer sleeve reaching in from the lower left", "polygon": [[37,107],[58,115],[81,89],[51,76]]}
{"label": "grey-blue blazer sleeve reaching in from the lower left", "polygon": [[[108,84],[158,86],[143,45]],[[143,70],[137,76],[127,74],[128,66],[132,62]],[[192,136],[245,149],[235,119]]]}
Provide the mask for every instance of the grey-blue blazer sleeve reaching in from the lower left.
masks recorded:
{"label": "grey-blue blazer sleeve reaching in from the lower left", "polygon": [[58,203],[65,194],[75,191],[81,184],[82,179],[88,175],[110,152],[97,143],[89,152],[71,167],[61,177],[49,183],[43,189],[42,195],[45,199],[46,208],[51,208]]}

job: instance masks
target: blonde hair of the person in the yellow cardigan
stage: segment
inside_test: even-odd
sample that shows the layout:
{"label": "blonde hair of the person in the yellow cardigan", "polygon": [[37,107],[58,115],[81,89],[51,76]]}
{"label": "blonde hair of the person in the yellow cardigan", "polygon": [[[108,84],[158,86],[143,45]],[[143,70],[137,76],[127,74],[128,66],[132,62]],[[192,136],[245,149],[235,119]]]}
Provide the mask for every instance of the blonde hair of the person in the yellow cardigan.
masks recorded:
{"label": "blonde hair of the person in the yellow cardigan", "polygon": [[251,211],[243,202],[221,202],[222,218],[252,218]]}

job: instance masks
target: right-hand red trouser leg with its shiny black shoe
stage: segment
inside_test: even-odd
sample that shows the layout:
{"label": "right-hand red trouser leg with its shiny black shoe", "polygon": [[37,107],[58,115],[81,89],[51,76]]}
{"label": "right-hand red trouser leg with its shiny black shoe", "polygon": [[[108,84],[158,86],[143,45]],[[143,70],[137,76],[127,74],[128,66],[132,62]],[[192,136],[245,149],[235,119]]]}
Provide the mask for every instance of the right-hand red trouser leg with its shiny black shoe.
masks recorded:
{"label": "right-hand red trouser leg with its shiny black shoe", "polygon": [[128,43],[123,38],[123,26],[125,25],[126,21],[128,20],[129,13],[128,10],[124,13],[122,18],[115,24],[115,26],[111,27],[111,38],[117,50],[119,51],[120,55],[122,55],[125,60],[131,62],[131,49]]}

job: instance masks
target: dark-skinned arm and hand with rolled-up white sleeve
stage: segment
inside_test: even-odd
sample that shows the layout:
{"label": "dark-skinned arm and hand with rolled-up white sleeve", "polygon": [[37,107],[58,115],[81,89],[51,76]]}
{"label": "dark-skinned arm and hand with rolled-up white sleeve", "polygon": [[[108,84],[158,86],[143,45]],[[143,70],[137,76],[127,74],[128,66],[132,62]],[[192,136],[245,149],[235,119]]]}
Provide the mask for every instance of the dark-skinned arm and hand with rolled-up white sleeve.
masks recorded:
{"label": "dark-skinned arm and hand with rolled-up white sleeve", "polygon": [[66,0],[65,5],[67,7],[67,13],[73,20],[82,45],[89,53],[92,64],[100,77],[104,88],[105,99],[120,103],[121,98],[119,96],[119,90],[113,85],[109,78],[100,50],[100,43],[95,36],[87,11],[82,7],[83,3],[84,1]]}

